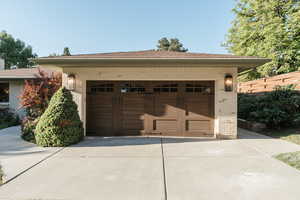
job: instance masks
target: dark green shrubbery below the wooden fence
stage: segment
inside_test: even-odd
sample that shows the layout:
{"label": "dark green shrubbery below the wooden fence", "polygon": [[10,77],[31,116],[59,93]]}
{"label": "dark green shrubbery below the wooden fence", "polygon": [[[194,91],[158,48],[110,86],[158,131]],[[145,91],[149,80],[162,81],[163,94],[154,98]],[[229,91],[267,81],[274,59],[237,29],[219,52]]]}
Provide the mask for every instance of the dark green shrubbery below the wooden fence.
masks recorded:
{"label": "dark green shrubbery below the wooden fence", "polygon": [[293,87],[277,87],[261,95],[239,94],[238,116],[280,128],[300,122],[300,93]]}

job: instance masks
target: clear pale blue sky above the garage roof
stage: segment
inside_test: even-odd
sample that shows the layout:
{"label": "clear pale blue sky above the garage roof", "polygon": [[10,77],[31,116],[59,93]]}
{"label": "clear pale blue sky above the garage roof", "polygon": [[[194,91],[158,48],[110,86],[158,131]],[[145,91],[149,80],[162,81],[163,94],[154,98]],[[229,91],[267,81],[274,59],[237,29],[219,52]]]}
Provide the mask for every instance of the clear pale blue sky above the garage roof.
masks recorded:
{"label": "clear pale blue sky above the garage roof", "polygon": [[189,52],[228,53],[222,47],[234,0],[2,0],[0,31],[38,56],[155,49],[178,38]]}

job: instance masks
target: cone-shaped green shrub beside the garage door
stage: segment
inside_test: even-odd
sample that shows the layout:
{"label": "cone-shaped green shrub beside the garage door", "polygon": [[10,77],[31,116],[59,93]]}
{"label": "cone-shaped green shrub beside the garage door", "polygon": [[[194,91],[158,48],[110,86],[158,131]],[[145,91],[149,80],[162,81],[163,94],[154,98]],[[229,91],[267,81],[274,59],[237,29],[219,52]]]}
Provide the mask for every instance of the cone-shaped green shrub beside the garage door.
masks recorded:
{"label": "cone-shaped green shrub beside the garage door", "polygon": [[51,98],[36,126],[35,139],[40,146],[68,146],[83,139],[77,105],[66,88],[60,88]]}

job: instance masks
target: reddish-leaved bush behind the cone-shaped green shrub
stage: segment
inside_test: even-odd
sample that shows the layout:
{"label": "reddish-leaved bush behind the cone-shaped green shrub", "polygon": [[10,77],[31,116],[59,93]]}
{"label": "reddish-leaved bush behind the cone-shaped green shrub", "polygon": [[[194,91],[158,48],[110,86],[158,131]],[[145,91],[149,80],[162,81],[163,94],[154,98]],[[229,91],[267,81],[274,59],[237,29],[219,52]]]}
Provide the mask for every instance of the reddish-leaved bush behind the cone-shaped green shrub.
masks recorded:
{"label": "reddish-leaved bush behind the cone-shaped green shrub", "polygon": [[26,111],[22,121],[22,138],[35,142],[35,126],[45,112],[51,97],[61,87],[61,73],[47,73],[38,70],[38,78],[25,81],[23,93],[20,95],[21,107]]}

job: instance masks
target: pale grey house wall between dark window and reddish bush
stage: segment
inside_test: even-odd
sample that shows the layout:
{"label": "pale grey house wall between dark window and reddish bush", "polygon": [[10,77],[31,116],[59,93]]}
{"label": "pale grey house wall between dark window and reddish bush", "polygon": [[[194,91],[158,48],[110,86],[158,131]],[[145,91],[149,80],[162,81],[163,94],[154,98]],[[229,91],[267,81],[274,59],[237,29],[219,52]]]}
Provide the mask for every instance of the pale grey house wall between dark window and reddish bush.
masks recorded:
{"label": "pale grey house wall between dark window and reddish bush", "polygon": [[19,96],[24,89],[24,80],[9,81],[9,108],[21,118],[24,110],[20,109]]}

